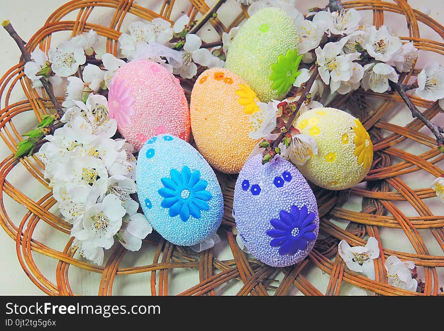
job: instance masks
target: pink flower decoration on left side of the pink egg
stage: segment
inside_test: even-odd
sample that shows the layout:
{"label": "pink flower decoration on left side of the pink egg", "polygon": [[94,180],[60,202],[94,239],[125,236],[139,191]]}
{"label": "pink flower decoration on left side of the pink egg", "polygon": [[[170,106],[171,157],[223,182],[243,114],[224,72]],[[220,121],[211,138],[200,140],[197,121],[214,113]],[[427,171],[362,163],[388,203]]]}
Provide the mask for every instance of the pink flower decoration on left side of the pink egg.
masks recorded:
{"label": "pink flower decoration on left side of the pink egg", "polygon": [[115,118],[119,126],[131,124],[130,116],[135,114],[133,105],[136,100],[130,97],[131,89],[124,81],[113,81],[108,93],[108,115]]}

